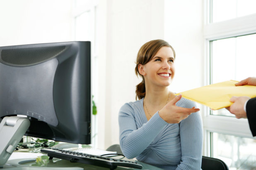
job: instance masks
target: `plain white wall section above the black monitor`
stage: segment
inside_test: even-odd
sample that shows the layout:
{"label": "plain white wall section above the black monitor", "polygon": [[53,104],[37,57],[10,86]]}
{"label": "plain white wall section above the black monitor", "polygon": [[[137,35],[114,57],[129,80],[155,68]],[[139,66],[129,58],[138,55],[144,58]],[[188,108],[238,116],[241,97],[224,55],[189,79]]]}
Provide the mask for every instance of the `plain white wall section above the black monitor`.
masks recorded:
{"label": "plain white wall section above the black monitor", "polygon": [[72,0],[0,0],[0,46],[72,40]]}

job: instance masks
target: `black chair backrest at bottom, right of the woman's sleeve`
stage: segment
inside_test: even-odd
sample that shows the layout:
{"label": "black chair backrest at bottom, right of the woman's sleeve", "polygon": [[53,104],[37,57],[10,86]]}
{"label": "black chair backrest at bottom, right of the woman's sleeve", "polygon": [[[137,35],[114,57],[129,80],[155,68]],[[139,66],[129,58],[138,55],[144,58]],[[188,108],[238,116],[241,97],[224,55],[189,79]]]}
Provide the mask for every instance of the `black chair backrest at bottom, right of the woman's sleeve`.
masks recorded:
{"label": "black chair backrest at bottom, right of the woman's sleeve", "polygon": [[202,157],[202,170],[229,170],[225,162],[217,158]]}

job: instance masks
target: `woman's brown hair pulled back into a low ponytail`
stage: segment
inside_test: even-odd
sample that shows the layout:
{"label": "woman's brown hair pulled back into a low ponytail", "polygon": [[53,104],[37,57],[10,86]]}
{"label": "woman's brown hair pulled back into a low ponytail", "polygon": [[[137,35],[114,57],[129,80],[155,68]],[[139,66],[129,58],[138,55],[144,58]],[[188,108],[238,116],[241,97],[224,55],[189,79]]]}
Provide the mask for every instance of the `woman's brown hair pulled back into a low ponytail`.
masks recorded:
{"label": "woman's brown hair pulled back into a low ponytail", "polygon": [[137,55],[135,74],[137,77],[138,77],[138,75],[142,77],[142,82],[140,82],[136,86],[136,91],[135,91],[136,92],[136,100],[137,100],[137,97],[140,100],[143,97],[145,97],[145,95],[146,95],[145,79],[139,73],[139,70],[138,70],[139,64],[142,64],[142,65],[147,64],[152,59],[152,57],[154,57],[155,54],[157,54],[158,50],[164,46],[171,48],[171,50],[173,51],[173,54],[174,54],[174,59],[175,59],[175,51],[174,51],[173,47],[171,47],[171,45],[169,45],[169,43],[167,43],[164,40],[151,40],[151,41],[145,43],[144,45],[142,45],[142,47],[140,47],[140,50]]}

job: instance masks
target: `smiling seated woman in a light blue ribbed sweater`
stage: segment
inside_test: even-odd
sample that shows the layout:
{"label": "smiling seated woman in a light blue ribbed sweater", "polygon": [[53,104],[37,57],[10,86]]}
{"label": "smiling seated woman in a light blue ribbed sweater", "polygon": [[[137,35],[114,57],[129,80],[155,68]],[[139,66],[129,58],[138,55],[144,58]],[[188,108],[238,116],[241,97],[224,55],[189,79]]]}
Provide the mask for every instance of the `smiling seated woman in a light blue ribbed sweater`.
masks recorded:
{"label": "smiling seated woman in a light blue ribbed sweater", "polygon": [[140,48],[135,67],[142,77],[136,89],[139,100],[119,111],[120,146],[127,158],[165,170],[200,170],[202,120],[194,102],[168,90],[174,59],[174,49],[164,40]]}

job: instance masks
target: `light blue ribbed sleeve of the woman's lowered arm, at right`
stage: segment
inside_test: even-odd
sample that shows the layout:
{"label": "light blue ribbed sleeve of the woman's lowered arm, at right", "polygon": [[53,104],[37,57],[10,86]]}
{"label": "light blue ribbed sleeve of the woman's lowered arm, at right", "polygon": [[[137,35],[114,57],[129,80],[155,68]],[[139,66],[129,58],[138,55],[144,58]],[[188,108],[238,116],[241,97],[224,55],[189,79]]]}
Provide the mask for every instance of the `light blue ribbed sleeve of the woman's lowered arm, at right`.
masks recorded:
{"label": "light blue ribbed sleeve of the woman's lowered arm, at right", "polygon": [[[190,100],[179,101],[184,108],[196,104]],[[200,170],[203,152],[203,123],[199,112],[191,113],[180,122],[181,163],[176,170]]]}

